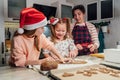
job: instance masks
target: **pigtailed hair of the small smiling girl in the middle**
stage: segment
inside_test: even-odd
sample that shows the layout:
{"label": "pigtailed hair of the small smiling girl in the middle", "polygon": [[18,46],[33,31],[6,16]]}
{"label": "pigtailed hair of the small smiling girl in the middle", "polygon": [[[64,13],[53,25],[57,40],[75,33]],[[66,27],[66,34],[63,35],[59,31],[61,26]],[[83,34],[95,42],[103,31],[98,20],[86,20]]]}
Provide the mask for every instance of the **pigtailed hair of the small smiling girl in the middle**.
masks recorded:
{"label": "pigtailed hair of the small smiling girl in the middle", "polygon": [[66,35],[64,36],[64,40],[67,39],[67,38],[72,38],[71,29],[70,29],[70,19],[69,18],[59,18],[59,21],[55,25],[50,24],[51,41],[53,43],[56,43],[56,41],[55,41],[55,39],[56,39],[55,27],[56,27],[57,24],[63,24],[63,23],[66,24],[66,29],[67,29]]}

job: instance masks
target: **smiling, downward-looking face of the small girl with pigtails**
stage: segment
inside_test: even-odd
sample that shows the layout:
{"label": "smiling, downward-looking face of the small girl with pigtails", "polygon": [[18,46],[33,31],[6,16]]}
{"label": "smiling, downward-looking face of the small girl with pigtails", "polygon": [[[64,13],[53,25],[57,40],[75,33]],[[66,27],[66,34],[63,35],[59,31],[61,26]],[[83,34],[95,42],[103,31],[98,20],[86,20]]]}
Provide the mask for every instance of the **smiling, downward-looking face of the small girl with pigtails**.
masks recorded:
{"label": "smiling, downward-looking face of the small girl with pigtails", "polygon": [[64,36],[66,35],[66,32],[67,32],[67,28],[66,28],[65,23],[56,24],[56,26],[55,26],[55,36],[57,37],[57,39],[63,40]]}

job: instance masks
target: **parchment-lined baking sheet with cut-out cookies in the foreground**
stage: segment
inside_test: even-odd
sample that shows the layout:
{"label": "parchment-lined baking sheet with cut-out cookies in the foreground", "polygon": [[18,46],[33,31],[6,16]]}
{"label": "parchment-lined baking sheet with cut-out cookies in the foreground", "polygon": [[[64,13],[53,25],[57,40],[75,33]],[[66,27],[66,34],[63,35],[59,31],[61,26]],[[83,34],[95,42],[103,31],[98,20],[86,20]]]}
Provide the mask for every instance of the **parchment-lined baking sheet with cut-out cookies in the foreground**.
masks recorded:
{"label": "parchment-lined baking sheet with cut-out cookies in the foreground", "polygon": [[60,80],[120,80],[120,70],[103,65],[91,65],[72,69],[51,70]]}

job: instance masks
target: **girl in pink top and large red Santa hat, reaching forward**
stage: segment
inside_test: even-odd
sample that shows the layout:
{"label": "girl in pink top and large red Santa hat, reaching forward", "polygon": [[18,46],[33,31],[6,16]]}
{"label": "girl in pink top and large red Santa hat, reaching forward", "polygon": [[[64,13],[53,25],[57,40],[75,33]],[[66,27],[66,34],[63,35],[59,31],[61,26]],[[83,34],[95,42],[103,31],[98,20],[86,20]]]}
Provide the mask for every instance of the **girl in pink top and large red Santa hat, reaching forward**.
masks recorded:
{"label": "girl in pink top and large red Santa hat, reaching forward", "polygon": [[42,34],[46,24],[47,19],[42,12],[34,8],[25,8],[21,11],[20,28],[15,32],[12,41],[10,65],[24,67],[50,60],[49,58],[39,60],[41,48],[52,51],[60,61],[64,61],[51,42]]}

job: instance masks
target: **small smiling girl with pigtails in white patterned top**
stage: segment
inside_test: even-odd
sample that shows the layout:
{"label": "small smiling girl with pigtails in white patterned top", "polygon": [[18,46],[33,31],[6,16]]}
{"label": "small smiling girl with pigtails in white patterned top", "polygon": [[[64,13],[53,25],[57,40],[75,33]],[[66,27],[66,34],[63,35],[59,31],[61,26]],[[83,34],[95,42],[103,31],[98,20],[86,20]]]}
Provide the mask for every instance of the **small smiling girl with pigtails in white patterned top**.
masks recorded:
{"label": "small smiling girl with pigtails in white patterned top", "polygon": [[[78,51],[74,45],[74,41],[70,31],[70,21],[68,18],[51,18],[49,20],[51,36],[48,38],[63,57],[74,58],[77,56]],[[51,55],[56,59],[55,55],[44,49],[45,57]]]}

